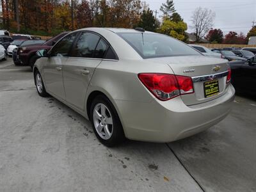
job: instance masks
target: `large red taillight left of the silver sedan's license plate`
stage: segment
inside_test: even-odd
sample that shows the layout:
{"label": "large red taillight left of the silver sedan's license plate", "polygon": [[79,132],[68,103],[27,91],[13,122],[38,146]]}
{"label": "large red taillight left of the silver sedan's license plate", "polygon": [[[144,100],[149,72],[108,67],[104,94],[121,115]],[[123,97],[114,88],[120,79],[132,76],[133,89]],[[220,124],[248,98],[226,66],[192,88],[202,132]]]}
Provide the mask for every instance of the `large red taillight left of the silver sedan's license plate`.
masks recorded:
{"label": "large red taillight left of the silver sedan's license plate", "polygon": [[160,100],[169,100],[179,95],[194,93],[191,77],[173,74],[138,74],[148,90]]}

